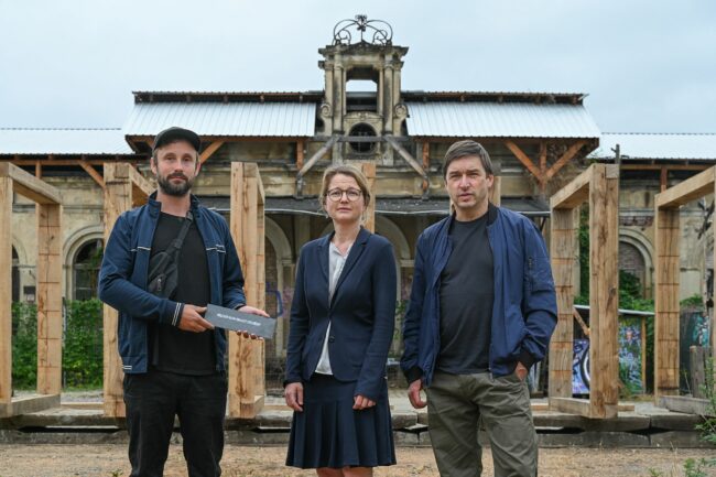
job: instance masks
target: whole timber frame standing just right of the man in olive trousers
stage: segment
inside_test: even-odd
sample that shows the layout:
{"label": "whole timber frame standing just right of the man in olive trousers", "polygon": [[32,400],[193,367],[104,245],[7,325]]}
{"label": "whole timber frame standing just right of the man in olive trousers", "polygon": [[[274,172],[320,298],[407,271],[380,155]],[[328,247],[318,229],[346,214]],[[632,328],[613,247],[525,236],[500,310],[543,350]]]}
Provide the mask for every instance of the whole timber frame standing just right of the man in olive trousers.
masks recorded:
{"label": "whole timber frame standing just right of the man in olive trousers", "polygon": [[[589,204],[589,400],[572,398],[573,275],[578,207]],[[585,418],[616,418],[619,404],[619,166],[593,164],[550,202],[557,326],[550,343],[550,409]]]}

